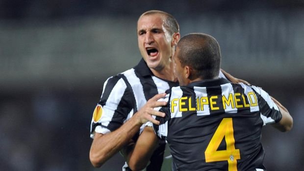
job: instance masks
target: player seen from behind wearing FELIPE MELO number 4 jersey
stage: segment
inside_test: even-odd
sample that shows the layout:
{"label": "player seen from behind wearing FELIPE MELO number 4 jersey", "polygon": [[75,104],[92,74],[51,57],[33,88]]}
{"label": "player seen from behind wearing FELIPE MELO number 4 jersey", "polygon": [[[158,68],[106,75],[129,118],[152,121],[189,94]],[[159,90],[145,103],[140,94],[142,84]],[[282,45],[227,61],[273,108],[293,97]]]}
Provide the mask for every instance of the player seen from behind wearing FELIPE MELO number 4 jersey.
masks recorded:
{"label": "player seen from behind wearing FELIPE MELO number 4 jersey", "polygon": [[[285,107],[259,87],[219,78],[218,42],[203,33],[180,39],[174,54],[179,87],[159,107],[166,116],[148,122],[130,154],[129,167],[146,164],[159,140],[167,140],[176,171],[266,171],[261,130],[289,131]],[[152,127],[150,127],[152,126]]]}

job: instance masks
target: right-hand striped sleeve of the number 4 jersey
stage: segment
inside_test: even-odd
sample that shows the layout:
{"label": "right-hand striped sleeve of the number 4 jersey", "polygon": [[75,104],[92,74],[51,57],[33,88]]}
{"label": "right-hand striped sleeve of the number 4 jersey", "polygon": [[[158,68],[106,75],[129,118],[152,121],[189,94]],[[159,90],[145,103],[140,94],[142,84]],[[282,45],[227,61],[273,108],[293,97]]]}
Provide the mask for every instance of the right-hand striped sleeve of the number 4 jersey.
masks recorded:
{"label": "right-hand striped sleeve of the number 4 jersey", "polygon": [[277,123],[282,119],[282,114],[279,111],[278,105],[272,100],[267,92],[263,89],[251,86],[257,95],[260,116],[263,120],[263,125]]}

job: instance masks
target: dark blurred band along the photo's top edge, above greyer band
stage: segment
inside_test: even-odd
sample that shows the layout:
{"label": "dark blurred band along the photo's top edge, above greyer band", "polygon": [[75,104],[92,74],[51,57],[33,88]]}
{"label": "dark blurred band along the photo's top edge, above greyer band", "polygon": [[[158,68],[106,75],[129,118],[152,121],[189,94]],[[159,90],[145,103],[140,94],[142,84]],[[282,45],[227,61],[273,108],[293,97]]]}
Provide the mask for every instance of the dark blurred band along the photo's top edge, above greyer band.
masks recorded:
{"label": "dark blurred band along the photo's top edge, above greyer band", "polygon": [[202,11],[240,11],[254,8],[303,8],[303,0],[0,0],[2,19],[60,19],[62,17],[113,15],[136,16],[149,9],[162,9],[176,17]]}

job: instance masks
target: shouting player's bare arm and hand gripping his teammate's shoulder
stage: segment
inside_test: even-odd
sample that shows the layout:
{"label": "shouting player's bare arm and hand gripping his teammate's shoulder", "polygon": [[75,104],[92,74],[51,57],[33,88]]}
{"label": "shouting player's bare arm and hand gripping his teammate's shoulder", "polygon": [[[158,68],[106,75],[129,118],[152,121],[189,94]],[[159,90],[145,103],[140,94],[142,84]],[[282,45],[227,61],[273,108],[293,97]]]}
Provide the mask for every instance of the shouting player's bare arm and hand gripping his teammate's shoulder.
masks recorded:
{"label": "shouting player's bare arm and hand gripping his teammate's shoulder", "polygon": [[94,167],[101,167],[109,158],[127,145],[139,131],[141,125],[150,121],[159,124],[152,115],[163,117],[162,112],[154,111],[154,107],[166,105],[165,101],[157,101],[166,94],[155,95],[134,114],[127,122],[113,132],[107,134],[95,133],[90,148],[90,161]]}

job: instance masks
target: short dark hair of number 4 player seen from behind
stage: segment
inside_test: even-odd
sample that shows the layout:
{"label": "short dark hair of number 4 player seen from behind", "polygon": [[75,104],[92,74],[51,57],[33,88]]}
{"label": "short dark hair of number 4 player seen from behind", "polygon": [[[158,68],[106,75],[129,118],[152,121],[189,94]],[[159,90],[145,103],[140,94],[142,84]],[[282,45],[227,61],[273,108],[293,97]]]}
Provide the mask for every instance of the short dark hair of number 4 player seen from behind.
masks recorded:
{"label": "short dark hair of number 4 player seen from behind", "polygon": [[221,67],[221,51],[216,39],[208,34],[191,33],[183,36],[177,47],[182,66],[190,66],[194,72],[190,79],[212,79],[218,76]]}

